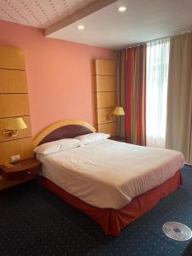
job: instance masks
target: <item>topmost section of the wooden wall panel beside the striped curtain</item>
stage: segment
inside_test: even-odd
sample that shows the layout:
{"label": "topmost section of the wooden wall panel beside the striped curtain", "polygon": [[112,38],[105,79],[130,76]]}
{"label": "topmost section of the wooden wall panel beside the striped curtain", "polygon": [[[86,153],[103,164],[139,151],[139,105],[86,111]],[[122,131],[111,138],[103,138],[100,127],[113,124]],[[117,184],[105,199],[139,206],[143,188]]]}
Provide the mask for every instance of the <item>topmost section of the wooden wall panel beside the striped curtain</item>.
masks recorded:
{"label": "topmost section of the wooden wall panel beside the striped curtain", "polygon": [[96,60],[95,61],[95,75],[114,76],[114,61],[110,60]]}

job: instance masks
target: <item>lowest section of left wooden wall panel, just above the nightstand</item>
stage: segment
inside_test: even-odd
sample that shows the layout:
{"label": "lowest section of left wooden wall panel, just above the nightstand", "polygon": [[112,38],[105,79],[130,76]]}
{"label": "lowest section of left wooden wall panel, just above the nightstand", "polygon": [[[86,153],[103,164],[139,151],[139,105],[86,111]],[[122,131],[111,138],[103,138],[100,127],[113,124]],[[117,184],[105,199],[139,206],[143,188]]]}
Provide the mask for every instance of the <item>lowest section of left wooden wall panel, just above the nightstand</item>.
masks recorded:
{"label": "lowest section of left wooden wall panel, just above the nightstand", "polygon": [[10,162],[10,156],[20,154],[20,159],[32,157],[32,138],[15,139],[0,143],[0,165]]}

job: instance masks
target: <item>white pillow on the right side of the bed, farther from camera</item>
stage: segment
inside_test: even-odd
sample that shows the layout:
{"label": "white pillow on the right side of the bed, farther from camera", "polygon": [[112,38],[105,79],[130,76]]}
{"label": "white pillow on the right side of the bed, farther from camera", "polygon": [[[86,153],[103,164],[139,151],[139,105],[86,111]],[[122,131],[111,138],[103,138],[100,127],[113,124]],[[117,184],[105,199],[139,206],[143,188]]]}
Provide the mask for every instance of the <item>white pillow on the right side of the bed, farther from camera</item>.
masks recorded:
{"label": "white pillow on the right side of the bed, farther from camera", "polygon": [[105,140],[108,137],[110,137],[110,134],[102,133],[102,132],[93,132],[93,133],[88,133],[75,138],[78,139],[82,144],[86,145],[86,144],[96,143],[96,142]]}

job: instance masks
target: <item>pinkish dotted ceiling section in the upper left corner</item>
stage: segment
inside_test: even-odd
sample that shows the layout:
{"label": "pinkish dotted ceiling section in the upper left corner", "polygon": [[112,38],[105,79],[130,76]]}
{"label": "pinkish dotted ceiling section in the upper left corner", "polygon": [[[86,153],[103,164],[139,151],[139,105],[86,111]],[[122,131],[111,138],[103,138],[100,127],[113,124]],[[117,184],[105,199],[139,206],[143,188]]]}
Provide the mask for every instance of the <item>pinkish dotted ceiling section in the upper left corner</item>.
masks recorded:
{"label": "pinkish dotted ceiling section in the upper left corner", "polygon": [[0,0],[0,20],[49,27],[96,0]]}

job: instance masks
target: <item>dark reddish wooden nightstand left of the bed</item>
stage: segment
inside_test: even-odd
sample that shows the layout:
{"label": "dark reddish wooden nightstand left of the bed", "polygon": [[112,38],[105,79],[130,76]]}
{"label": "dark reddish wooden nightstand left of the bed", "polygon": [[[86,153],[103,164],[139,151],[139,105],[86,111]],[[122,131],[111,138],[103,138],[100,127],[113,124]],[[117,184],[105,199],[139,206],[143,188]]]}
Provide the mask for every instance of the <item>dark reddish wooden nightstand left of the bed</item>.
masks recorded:
{"label": "dark reddish wooden nightstand left of the bed", "polygon": [[13,164],[0,166],[0,174],[6,180],[30,180],[41,171],[41,163],[34,158],[20,160]]}

